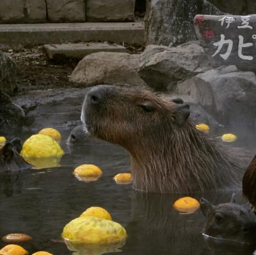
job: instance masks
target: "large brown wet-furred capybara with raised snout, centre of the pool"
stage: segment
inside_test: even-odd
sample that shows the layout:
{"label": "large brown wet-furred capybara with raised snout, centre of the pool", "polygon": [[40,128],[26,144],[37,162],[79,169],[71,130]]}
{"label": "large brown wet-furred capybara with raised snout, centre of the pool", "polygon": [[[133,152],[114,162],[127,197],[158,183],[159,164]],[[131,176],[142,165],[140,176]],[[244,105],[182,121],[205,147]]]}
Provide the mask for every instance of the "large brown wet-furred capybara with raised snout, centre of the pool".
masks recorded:
{"label": "large brown wet-furred capybara with raised snout, centre of the pool", "polygon": [[246,157],[195,128],[189,105],[137,88],[100,85],[84,99],[81,120],[99,139],[131,154],[134,189],[190,193],[241,189]]}

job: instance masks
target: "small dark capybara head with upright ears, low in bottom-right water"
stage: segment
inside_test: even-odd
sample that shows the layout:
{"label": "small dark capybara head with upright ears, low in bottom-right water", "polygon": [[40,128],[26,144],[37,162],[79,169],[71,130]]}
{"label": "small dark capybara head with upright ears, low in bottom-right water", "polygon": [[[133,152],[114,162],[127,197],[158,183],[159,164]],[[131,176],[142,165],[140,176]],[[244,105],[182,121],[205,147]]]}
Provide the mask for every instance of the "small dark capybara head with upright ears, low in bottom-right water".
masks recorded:
{"label": "small dark capybara head with upright ears, low in bottom-right water", "polygon": [[202,198],[200,208],[207,219],[204,235],[239,243],[256,243],[256,216],[250,205],[237,205],[233,195],[230,203],[216,206]]}

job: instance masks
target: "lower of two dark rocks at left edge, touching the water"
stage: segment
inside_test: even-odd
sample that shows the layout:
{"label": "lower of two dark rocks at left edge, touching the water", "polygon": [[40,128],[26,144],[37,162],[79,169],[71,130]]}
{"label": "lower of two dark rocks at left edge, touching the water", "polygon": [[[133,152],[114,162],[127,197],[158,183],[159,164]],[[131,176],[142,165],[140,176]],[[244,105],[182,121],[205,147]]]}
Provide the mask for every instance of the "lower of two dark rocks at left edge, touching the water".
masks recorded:
{"label": "lower of two dark rocks at left edge, touching the water", "polygon": [[18,136],[23,125],[31,125],[35,118],[26,116],[19,105],[13,104],[11,98],[0,91],[0,135],[8,138]]}

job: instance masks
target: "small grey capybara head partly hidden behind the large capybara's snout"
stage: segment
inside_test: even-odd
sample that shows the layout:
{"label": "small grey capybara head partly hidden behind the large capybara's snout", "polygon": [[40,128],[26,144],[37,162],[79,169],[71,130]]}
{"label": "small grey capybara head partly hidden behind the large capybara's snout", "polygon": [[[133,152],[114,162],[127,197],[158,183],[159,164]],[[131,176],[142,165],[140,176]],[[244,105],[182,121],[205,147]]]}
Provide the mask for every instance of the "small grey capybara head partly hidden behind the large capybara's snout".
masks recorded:
{"label": "small grey capybara head partly hidden behind the large capybara's snout", "polygon": [[84,126],[84,123],[80,123],[74,127],[67,139],[67,144],[83,144],[90,139],[90,135]]}

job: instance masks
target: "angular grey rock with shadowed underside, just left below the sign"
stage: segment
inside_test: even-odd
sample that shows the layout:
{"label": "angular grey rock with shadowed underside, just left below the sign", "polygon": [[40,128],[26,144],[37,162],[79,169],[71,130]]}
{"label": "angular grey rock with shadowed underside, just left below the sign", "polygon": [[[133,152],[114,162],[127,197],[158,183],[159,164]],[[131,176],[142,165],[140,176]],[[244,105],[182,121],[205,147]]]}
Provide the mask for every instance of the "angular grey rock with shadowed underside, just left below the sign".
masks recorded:
{"label": "angular grey rock with shadowed underside, just left below the sign", "polygon": [[148,45],[140,55],[140,77],[156,90],[172,91],[179,81],[212,68],[203,48],[196,44],[179,47]]}

